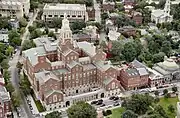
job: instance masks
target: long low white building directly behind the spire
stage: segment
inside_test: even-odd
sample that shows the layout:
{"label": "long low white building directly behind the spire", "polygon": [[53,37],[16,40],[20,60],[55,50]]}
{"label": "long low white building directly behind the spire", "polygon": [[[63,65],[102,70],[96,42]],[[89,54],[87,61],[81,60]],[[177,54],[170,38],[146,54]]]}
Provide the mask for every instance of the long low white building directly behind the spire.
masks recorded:
{"label": "long low white building directly behind the spire", "polygon": [[63,18],[65,13],[69,20],[88,20],[84,4],[46,4],[43,8],[42,20],[51,21],[52,18]]}

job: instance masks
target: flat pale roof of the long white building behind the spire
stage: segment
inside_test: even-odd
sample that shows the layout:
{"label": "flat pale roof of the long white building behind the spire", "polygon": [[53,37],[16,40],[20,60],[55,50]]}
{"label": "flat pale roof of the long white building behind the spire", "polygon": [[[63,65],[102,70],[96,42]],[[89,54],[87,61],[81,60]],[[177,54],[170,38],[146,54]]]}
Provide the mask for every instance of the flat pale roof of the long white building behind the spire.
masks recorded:
{"label": "flat pale roof of the long white building behind the spire", "polygon": [[46,4],[44,10],[86,11],[85,4]]}

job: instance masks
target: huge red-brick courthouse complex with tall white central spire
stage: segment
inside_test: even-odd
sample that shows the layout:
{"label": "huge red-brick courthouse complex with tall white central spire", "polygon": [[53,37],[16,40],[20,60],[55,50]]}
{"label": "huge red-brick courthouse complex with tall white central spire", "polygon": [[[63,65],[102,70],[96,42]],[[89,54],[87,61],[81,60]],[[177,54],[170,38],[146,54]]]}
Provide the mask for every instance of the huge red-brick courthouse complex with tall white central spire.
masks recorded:
{"label": "huge red-brick courthouse complex with tall white central spire", "polygon": [[58,40],[37,38],[34,42],[36,48],[22,53],[23,70],[47,110],[120,93],[117,69],[105,61],[102,49],[72,38],[66,14]]}

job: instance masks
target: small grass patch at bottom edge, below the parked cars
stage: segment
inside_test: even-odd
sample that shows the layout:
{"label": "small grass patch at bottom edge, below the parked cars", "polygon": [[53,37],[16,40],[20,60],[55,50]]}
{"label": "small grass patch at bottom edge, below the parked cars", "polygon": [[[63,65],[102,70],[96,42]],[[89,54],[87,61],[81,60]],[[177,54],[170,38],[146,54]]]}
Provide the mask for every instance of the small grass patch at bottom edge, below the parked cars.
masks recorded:
{"label": "small grass patch at bottom edge, below the parked cars", "polygon": [[112,109],[112,114],[107,116],[106,118],[121,118],[122,113],[125,111],[125,108],[119,107]]}

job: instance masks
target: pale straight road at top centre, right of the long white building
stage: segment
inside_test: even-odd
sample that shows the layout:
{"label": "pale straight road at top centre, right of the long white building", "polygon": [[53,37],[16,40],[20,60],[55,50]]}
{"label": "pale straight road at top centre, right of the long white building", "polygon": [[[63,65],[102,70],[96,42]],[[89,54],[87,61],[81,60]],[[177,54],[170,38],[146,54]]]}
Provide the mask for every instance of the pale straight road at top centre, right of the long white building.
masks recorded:
{"label": "pale straight road at top centre, right of the long white building", "polygon": [[94,9],[95,9],[95,21],[101,23],[101,9],[100,4],[97,3],[96,0],[94,1]]}

